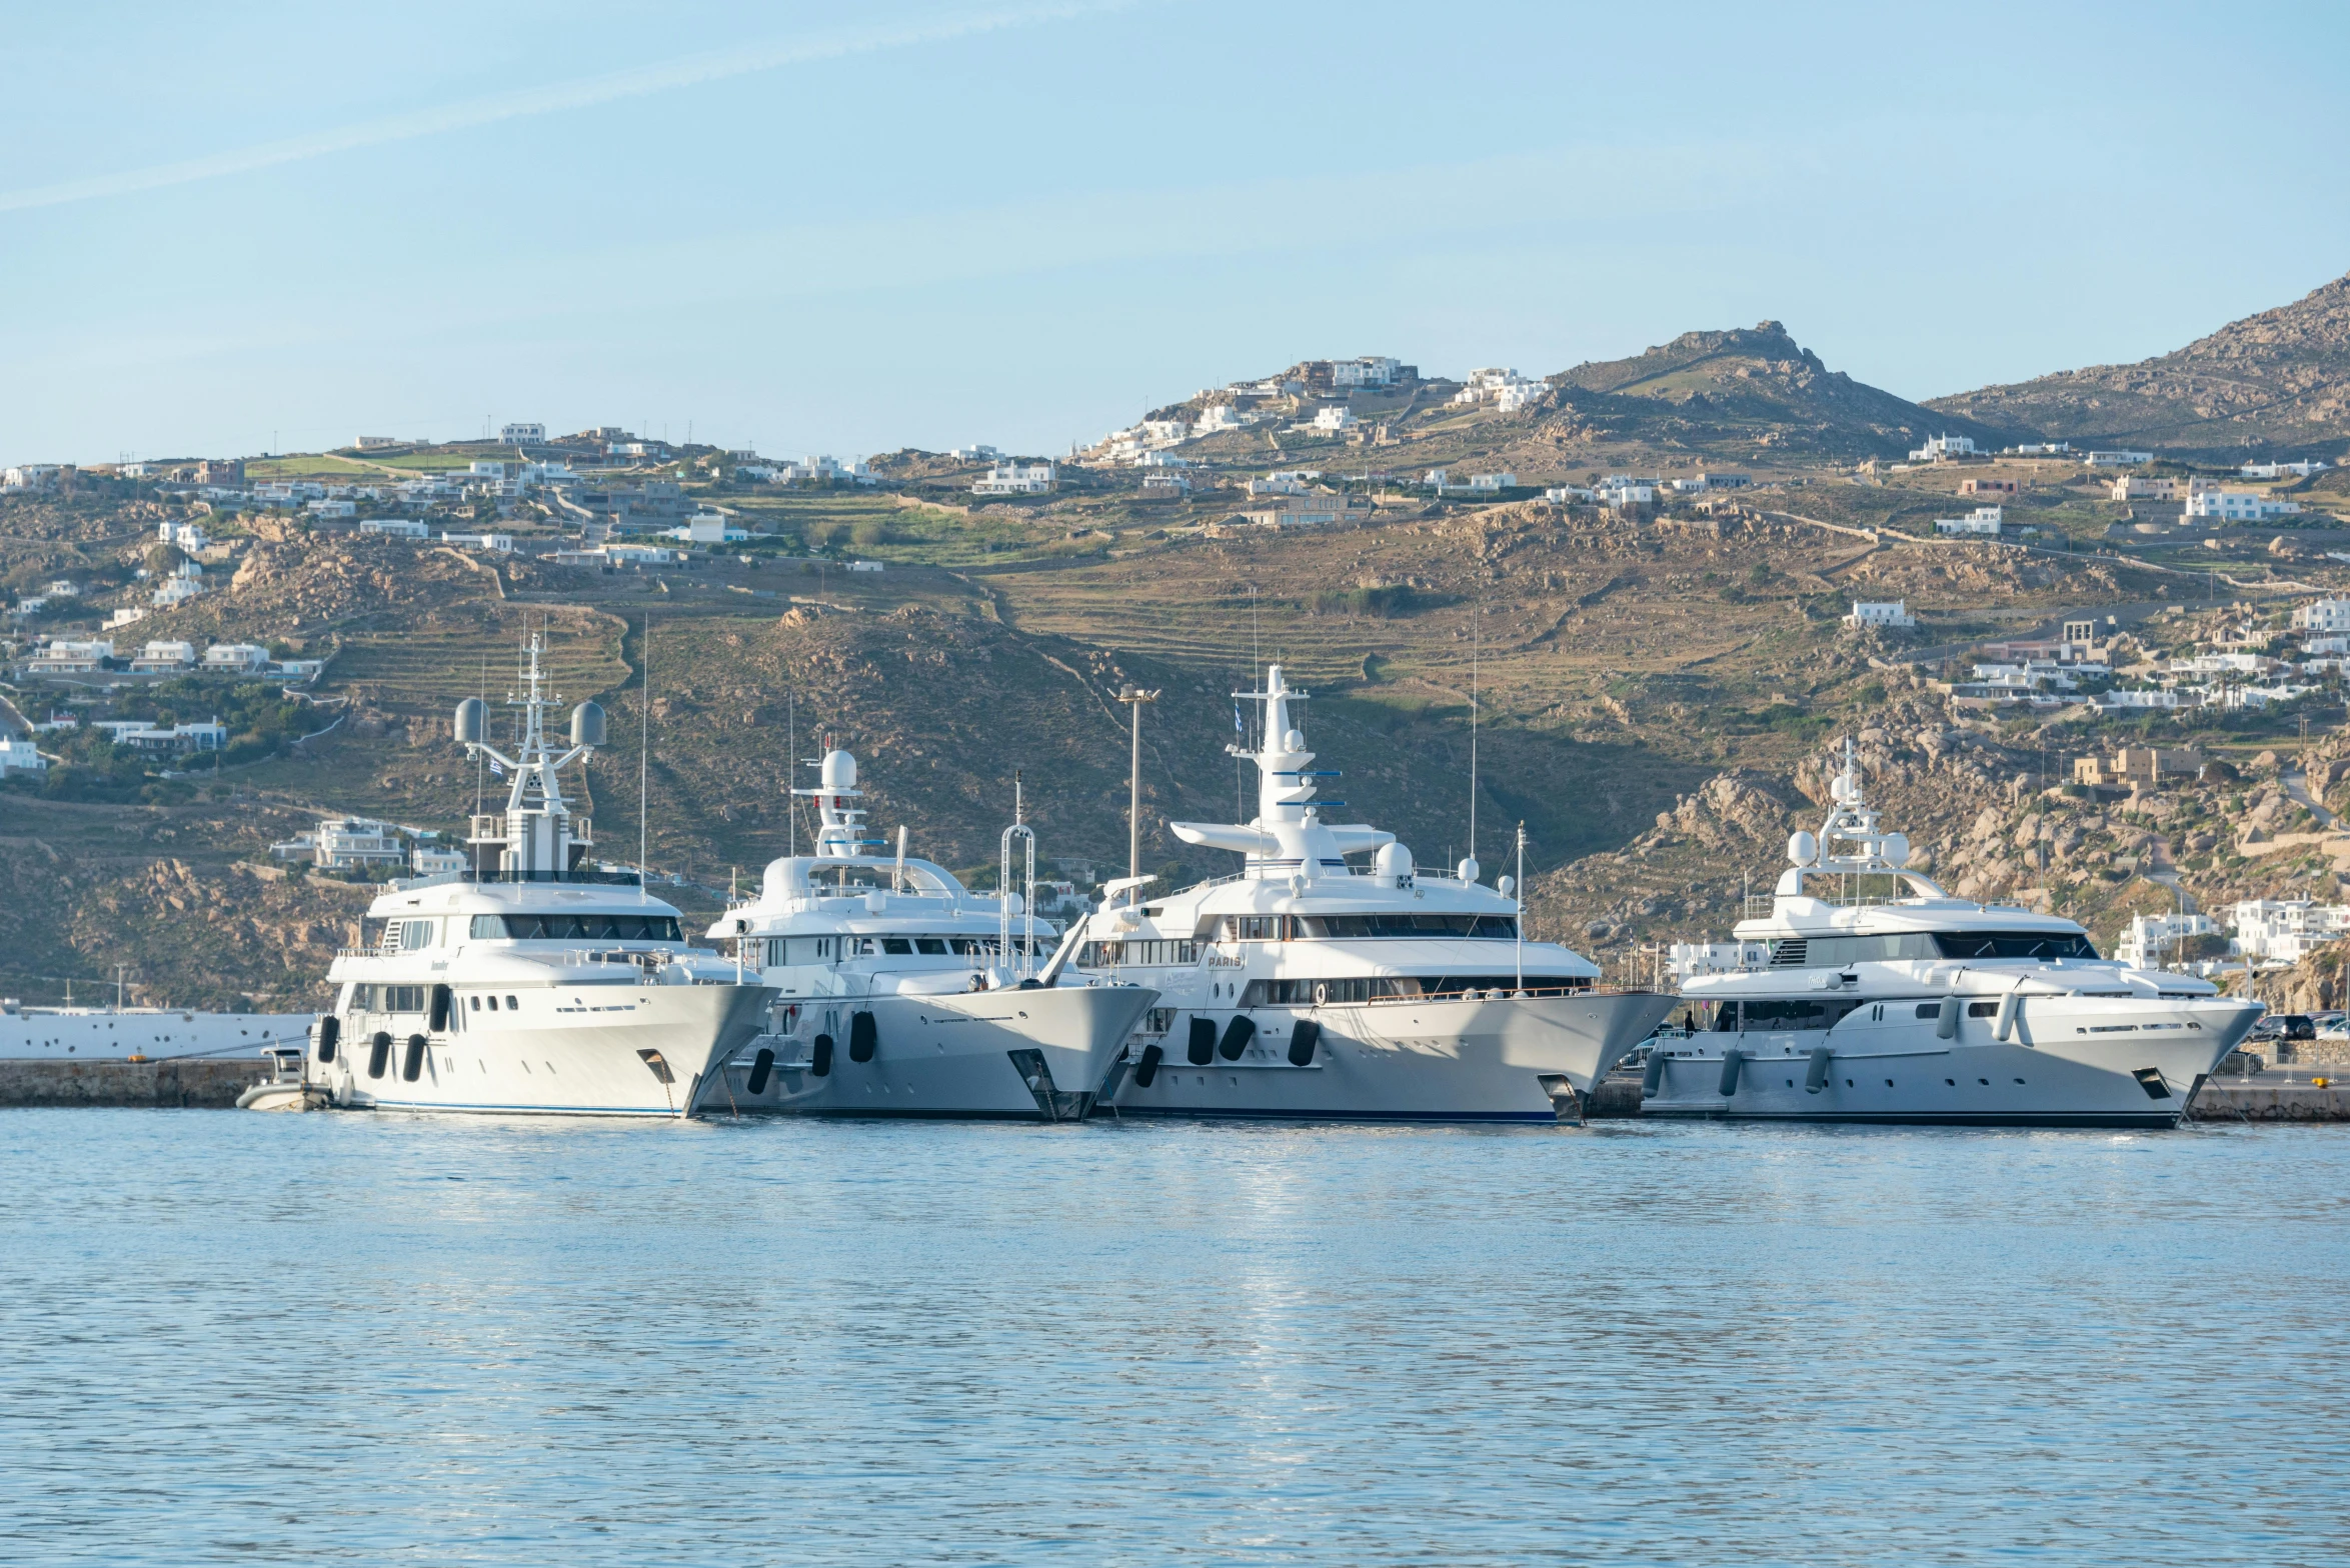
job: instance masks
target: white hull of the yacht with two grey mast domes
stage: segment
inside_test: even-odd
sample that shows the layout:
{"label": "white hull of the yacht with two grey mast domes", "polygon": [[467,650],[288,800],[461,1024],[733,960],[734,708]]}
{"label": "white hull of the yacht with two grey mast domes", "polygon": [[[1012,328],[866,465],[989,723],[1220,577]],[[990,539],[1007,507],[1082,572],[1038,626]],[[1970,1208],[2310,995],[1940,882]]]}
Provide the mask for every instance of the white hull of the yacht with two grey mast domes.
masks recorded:
{"label": "white hull of the yacht with two grey mast domes", "polygon": [[[468,1012],[461,1030],[425,1033],[414,1077],[409,1040],[421,1030],[357,1016],[343,1026],[336,1061],[313,1061],[310,1073],[355,1110],[682,1117],[712,1108],[712,1068],[759,1033],[773,995],[766,986],[578,986],[555,998],[569,1007],[552,1023]],[[369,1073],[378,1030],[392,1045],[383,1070]]]}

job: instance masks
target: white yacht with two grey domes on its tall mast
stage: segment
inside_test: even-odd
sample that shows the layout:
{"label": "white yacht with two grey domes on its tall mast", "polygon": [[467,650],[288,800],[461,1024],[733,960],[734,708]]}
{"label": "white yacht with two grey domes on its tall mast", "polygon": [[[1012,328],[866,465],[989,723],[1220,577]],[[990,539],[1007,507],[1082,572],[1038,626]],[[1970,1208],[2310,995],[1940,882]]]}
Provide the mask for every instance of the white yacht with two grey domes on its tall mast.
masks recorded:
{"label": "white yacht with two grey domes on its tall mast", "polygon": [[334,1106],[693,1115],[724,1103],[712,1068],[764,1026],[773,991],[686,946],[642,873],[590,866],[557,772],[604,744],[604,711],[573,709],[557,753],[538,655],[533,636],[512,756],[479,699],[456,711],[465,749],[512,775],[505,812],[472,819],[475,866],[392,883],[367,911],[376,941],[334,960],[308,1063]]}

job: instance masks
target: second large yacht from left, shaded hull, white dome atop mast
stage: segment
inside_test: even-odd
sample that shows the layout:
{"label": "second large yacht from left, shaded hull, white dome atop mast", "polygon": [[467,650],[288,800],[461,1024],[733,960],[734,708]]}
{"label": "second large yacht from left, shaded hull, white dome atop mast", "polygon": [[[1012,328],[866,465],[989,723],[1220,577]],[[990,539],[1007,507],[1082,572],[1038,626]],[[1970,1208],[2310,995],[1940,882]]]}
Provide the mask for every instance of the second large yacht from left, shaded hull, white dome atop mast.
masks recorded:
{"label": "second large yacht from left, shaded hull, white dome atop mast", "polygon": [[[1156,993],[1046,960],[1036,836],[1003,836],[999,897],[865,840],[858,765],[830,749],[813,854],[771,861],[759,894],[710,930],[776,988],[771,1030],[724,1073],[738,1110],[1081,1120]],[[1013,843],[1027,840],[1027,897]]]}

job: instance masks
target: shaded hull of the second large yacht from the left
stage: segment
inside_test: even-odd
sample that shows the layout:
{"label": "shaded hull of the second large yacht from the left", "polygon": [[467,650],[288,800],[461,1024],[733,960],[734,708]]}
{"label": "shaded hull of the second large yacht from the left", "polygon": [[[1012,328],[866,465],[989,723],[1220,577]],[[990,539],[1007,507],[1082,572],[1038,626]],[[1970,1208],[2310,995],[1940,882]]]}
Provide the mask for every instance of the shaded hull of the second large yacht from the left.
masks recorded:
{"label": "shaded hull of the second large yacht from the left", "polygon": [[[1144,986],[806,998],[785,1033],[728,1056],[712,1094],[743,1115],[1083,1120],[1156,1000]],[[858,1012],[872,1014],[867,1061]],[[759,1052],[773,1052],[764,1073]]]}

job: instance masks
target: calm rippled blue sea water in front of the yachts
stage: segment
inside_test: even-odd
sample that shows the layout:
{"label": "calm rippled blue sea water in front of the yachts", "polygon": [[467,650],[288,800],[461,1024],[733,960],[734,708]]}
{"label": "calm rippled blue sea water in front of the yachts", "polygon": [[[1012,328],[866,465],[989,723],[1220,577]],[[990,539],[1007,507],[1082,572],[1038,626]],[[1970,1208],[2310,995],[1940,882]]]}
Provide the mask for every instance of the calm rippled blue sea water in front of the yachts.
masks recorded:
{"label": "calm rippled blue sea water in front of the yachts", "polygon": [[2338,1563],[2350,1136],[0,1113],[9,1563]]}

